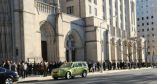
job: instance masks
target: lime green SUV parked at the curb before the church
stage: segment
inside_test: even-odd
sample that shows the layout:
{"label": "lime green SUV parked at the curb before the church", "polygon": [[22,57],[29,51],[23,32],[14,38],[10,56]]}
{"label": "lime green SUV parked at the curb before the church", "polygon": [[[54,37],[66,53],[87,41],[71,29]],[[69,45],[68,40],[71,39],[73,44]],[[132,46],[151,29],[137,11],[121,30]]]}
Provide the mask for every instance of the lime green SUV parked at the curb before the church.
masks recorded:
{"label": "lime green SUV parked at the curb before the church", "polygon": [[52,70],[54,80],[58,78],[74,78],[76,75],[81,75],[83,78],[87,76],[88,65],[86,62],[67,62],[61,65],[60,68]]}

